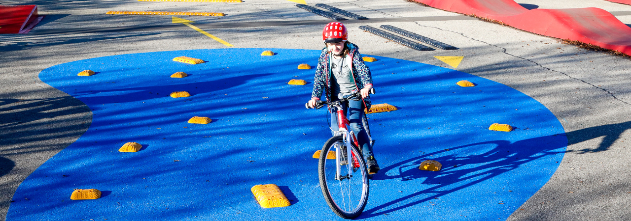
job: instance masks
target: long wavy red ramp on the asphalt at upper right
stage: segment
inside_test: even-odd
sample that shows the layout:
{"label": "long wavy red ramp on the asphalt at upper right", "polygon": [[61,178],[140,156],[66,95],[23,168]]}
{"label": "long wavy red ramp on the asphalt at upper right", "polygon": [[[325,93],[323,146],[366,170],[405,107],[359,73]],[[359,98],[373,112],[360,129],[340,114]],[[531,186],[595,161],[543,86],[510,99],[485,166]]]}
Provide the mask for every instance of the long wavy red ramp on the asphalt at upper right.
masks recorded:
{"label": "long wavy red ramp on the asphalt at upper right", "polygon": [[433,8],[501,21],[540,35],[582,41],[631,55],[631,28],[599,8],[528,10],[512,0],[414,1]]}

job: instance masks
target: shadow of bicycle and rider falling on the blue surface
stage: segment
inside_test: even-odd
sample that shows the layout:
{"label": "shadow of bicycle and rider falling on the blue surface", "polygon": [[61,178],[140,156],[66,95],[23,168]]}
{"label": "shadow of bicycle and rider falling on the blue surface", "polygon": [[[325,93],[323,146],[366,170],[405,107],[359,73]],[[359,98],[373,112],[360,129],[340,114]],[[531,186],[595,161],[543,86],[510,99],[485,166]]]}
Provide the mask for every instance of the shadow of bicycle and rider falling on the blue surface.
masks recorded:
{"label": "shadow of bicycle and rider falling on the blue surface", "polygon": [[[432,185],[425,190],[411,193],[404,197],[396,198],[390,202],[377,205],[365,210],[358,218],[370,218],[385,213],[396,212],[403,208],[418,205],[423,202],[434,200],[455,191],[463,190],[469,186],[474,186],[486,180],[495,178],[507,171],[514,170],[522,164],[545,158],[552,154],[565,153],[565,150],[558,151],[558,148],[565,148],[567,140],[564,134],[536,137],[510,143],[510,141],[497,140],[481,143],[466,144],[455,148],[443,149],[432,153],[425,153],[410,159],[391,164],[373,176],[373,180],[411,181],[425,179],[422,184]],[[565,141],[565,142],[563,142]],[[441,157],[432,155],[444,154],[464,148],[474,148],[480,145],[495,145],[485,153],[460,156],[447,154]],[[543,148],[545,147],[545,148]],[[460,152],[462,153],[462,152]],[[418,170],[418,166],[426,159],[433,159],[442,164],[440,171]],[[466,165],[478,165],[467,167]],[[557,164],[558,165],[558,164]],[[463,166],[463,167],[461,167]],[[377,190],[372,190],[377,191]],[[419,198],[420,196],[427,196]]]}

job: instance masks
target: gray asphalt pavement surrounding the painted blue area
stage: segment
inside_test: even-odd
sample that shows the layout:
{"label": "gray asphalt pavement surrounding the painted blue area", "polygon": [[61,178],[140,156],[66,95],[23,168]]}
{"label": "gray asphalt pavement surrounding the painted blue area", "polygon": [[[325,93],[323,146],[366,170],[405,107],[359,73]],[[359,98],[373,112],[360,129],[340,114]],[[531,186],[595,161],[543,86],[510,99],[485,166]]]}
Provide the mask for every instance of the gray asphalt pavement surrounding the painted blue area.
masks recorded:
{"label": "gray asphalt pavement surrounding the painted blue area", "polygon": [[[533,97],[562,123],[569,146],[557,172],[509,220],[631,220],[631,60],[546,36],[404,0],[309,1],[371,20],[347,24],[363,54],[440,67],[434,56],[464,56],[457,70]],[[631,25],[631,6],[602,0],[521,0],[526,8],[596,7]],[[225,48],[171,16],[106,11],[222,12],[178,16],[237,48],[322,48],[328,20],[285,0],[244,3],[0,1],[36,4],[46,17],[28,35],[0,35],[0,220],[20,182],[86,131],[91,111],[44,84],[38,73],[60,63],[151,51]],[[254,25],[256,24],[256,25]],[[416,51],[358,26],[390,24],[459,50]],[[377,86],[378,87],[378,86]]]}

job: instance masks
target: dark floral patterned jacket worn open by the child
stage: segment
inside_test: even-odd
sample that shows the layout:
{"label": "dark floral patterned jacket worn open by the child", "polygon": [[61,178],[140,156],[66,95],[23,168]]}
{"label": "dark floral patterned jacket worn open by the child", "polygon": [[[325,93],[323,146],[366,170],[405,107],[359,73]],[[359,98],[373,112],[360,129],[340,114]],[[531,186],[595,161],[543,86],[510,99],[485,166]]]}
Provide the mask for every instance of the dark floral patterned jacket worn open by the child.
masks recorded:
{"label": "dark floral patterned jacket worn open by the child", "polygon": [[[346,43],[346,46],[349,48],[348,56],[350,56],[351,61],[353,61],[351,74],[353,75],[353,80],[355,80],[355,85],[358,89],[363,89],[366,85],[372,86],[370,69],[363,63],[363,58],[358,51],[357,45]],[[322,49],[317,68],[315,68],[314,90],[311,94],[312,98],[320,99],[322,90],[324,90],[324,92],[326,92],[326,100],[331,101],[331,74],[333,74],[333,72],[331,72],[331,68],[329,67],[329,51],[325,47]],[[366,97],[362,100],[365,107],[370,109],[372,105],[370,103],[370,97]]]}

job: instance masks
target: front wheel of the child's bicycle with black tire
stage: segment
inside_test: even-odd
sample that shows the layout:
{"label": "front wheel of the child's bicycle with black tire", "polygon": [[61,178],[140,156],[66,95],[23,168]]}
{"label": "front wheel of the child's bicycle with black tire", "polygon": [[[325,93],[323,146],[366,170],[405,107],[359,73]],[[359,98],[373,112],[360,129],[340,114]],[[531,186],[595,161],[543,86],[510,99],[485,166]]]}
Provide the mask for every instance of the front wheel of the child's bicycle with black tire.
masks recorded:
{"label": "front wheel of the child's bicycle with black tire", "polygon": [[[350,159],[346,156],[346,148],[352,153]],[[338,153],[333,154],[336,159],[330,159],[330,156],[327,159],[329,151]],[[355,218],[363,212],[368,202],[369,178],[362,154],[355,144],[345,146],[341,136],[326,141],[320,154],[318,175],[324,199],[334,213],[342,218]]]}

